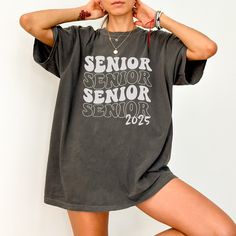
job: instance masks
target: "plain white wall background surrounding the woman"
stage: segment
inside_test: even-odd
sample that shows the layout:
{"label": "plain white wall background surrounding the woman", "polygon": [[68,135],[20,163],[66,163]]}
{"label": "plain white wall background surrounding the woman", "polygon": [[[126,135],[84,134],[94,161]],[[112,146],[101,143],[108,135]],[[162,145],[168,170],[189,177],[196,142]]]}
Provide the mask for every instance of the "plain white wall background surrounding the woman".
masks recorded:
{"label": "plain white wall background surrounding the woman", "polygon": [[[7,1],[1,7],[0,235],[72,235],[66,210],[43,203],[50,129],[59,79],[33,61],[23,13],[86,1]],[[174,86],[172,171],[236,220],[235,1],[151,1],[169,17],[218,44],[196,85]],[[73,24],[76,22],[71,22]],[[99,27],[101,20],[80,22]],[[154,235],[169,228],[136,207],[110,212],[111,236]]]}

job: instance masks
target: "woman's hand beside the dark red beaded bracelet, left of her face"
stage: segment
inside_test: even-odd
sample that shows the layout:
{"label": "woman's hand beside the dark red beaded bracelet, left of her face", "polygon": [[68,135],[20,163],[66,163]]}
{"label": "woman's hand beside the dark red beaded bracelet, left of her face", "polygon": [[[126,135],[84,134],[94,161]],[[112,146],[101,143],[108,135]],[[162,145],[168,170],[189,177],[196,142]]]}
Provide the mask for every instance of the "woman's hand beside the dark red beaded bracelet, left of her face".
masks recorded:
{"label": "woman's hand beside the dark red beaded bracelet, left of her face", "polygon": [[86,16],[85,20],[94,20],[101,18],[107,14],[106,11],[100,6],[100,0],[90,0],[87,4],[84,5],[85,11],[90,13],[90,16]]}

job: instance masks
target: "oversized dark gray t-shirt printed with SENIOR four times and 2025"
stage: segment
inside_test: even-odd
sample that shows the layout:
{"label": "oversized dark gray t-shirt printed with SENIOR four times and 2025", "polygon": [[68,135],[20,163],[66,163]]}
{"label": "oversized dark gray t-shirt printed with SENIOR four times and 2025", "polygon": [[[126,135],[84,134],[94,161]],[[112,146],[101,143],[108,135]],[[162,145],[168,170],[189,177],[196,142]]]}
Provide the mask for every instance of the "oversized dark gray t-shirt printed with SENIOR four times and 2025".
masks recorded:
{"label": "oversized dark gray t-shirt printed with SENIOR four times and 2025", "polygon": [[148,31],[136,28],[116,55],[104,28],[57,25],[53,35],[53,47],[36,38],[33,47],[60,79],[44,202],[110,211],[151,197],[177,177],[168,167],[172,86],[196,84],[206,60],[186,60],[186,46],[165,30],[152,30],[148,47]]}

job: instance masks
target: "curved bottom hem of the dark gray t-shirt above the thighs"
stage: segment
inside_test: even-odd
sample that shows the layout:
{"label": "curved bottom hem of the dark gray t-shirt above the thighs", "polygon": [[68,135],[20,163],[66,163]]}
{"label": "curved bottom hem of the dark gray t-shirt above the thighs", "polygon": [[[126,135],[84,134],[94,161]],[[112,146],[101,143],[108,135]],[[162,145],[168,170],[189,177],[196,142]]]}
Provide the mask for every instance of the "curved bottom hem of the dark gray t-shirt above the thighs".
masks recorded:
{"label": "curved bottom hem of the dark gray t-shirt above the thighs", "polygon": [[139,198],[139,200],[137,201],[133,201],[131,203],[123,204],[123,205],[83,205],[83,204],[75,204],[75,203],[72,204],[69,202],[56,199],[55,197],[52,198],[52,197],[47,197],[47,196],[44,197],[44,203],[52,205],[52,206],[60,207],[63,209],[67,209],[67,210],[74,210],[74,211],[95,211],[96,212],[96,211],[122,210],[125,208],[135,206],[147,200],[149,197],[157,193],[162,187],[164,187],[170,180],[174,178],[178,178],[178,177],[174,175],[172,172],[170,172],[168,175],[165,175],[163,177],[160,176],[156,184],[152,186],[150,191],[146,192],[146,194],[143,195],[143,197]]}

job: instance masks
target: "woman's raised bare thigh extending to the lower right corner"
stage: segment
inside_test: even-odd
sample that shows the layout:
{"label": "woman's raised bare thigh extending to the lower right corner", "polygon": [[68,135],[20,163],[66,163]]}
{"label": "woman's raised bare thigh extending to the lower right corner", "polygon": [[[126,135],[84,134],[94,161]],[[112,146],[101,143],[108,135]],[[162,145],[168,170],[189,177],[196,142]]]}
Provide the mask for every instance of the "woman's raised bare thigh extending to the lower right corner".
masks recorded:
{"label": "woman's raised bare thigh extending to the lower right corner", "polygon": [[136,205],[152,218],[190,236],[236,236],[233,220],[180,178]]}

